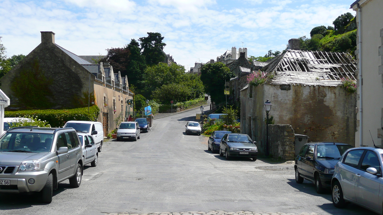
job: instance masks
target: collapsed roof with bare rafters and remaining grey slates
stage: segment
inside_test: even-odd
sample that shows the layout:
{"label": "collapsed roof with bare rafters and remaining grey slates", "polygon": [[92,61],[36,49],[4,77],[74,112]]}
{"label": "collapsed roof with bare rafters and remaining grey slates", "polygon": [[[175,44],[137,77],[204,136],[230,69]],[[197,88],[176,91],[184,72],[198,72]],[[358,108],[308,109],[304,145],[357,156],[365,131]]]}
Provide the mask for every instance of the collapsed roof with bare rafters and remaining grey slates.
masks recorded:
{"label": "collapsed roof with bare rafters and remaining grey slates", "polygon": [[286,50],[262,70],[275,75],[271,84],[338,86],[356,80],[356,63],[344,52]]}

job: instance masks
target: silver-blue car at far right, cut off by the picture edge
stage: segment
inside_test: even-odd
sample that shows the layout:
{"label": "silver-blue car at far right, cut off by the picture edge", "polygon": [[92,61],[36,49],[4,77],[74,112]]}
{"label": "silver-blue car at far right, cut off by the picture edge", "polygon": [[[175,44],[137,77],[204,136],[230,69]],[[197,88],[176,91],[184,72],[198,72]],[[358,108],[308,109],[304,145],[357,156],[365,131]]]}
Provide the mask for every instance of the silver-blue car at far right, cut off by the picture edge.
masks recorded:
{"label": "silver-blue car at far right, cut off by the picture edge", "polygon": [[[358,147],[347,150],[335,165],[332,176],[332,203],[345,207],[346,202],[382,214],[383,150]],[[367,214],[367,213],[366,213]]]}

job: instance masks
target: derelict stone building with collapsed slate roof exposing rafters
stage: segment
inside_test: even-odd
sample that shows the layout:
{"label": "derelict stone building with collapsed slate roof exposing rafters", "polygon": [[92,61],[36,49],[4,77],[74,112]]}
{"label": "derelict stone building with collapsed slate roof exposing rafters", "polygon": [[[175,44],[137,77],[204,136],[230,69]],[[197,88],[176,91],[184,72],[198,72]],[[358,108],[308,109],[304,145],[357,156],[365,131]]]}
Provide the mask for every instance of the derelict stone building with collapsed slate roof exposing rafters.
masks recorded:
{"label": "derelict stone building with collapsed slate roof exposing rafters", "polygon": [[264,103],[269,99],[275,124],[291,125],[296,133],[308,135],[309,141],[332,142],[333,138],[355,145],[357,94],[340,87],[341,78],[355,80],[355,69],[348,54],[290,46],[262,68],[274,75],[268,83],[241,89],[241,132],[264,150]]}

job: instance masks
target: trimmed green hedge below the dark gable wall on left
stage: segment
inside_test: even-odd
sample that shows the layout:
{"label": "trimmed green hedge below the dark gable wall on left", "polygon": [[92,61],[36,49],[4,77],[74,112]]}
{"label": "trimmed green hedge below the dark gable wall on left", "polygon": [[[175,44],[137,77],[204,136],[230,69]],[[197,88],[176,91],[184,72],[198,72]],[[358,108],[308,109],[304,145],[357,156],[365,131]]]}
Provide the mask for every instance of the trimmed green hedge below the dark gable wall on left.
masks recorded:
{"label": "trimmed green hedge below the dark gable wall on left", "polygon": [[97,121],[100,109],[97,105],[89,108],[75,108],[62,110],[25,110],[25,111],[5,111],[4,117],[36,117],[46,121],[52,127],[63,127],[65,122],[70,120],[77,121]]}

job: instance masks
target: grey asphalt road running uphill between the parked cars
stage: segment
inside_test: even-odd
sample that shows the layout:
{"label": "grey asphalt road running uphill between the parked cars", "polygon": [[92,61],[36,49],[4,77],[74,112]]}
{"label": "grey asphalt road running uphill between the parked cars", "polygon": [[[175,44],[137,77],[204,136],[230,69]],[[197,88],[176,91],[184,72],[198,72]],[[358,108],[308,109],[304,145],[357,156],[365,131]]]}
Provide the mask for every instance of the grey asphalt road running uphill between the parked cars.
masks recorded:
{"label": "grey asphalt road running uphill between the parked cars", "polygon": [[332,205],[309,182],[296,184],[293,164],[241,158],[227,161],[207,150],[204,136],[185,135],[199,109],[154,121],[136,142],[103,145],[98,166],[85,166],[79,188],[59,184],[51,204],[39,196],[0,194],[0,214],[85,214],[225,210],[321,215],[373,214],[353,204]]}

